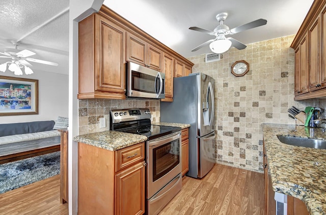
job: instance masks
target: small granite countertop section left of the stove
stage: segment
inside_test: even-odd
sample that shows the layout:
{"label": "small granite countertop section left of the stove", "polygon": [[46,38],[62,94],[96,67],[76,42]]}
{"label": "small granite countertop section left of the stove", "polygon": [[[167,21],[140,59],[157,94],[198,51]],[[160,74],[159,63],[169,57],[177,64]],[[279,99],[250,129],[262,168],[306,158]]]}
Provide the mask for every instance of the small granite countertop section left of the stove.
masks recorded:
{"label": "small granite countertop section left of the stove", "polygon": [[144,142],[147,140],[147,136],[108,130],[75,136],[73,140],[102,149],[116,151]]}

